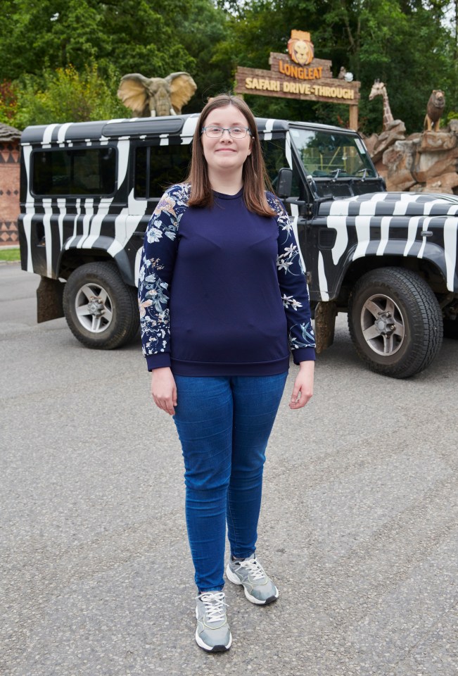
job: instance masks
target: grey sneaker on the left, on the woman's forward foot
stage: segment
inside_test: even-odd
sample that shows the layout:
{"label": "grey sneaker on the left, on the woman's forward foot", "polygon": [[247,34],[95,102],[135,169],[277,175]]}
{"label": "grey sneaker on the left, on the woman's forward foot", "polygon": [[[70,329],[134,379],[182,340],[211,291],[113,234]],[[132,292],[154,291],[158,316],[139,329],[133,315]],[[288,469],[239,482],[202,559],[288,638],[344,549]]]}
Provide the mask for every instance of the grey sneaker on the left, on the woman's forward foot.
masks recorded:
{"label": "grey sneaker on the left, on the woman's forward foot", "polygon": [[196,641],[210,653],[221,653],[231,647],[231,630],[224,606],[227,606],[224,592],[203,592],[197,596]]}

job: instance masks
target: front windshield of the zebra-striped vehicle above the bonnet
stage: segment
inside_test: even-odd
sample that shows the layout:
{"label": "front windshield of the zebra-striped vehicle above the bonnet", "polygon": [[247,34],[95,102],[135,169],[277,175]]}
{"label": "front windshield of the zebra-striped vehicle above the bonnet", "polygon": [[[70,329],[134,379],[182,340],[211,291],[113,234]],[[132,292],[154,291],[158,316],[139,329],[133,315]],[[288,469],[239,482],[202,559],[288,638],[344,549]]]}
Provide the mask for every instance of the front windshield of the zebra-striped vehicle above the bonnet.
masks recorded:
{"label": "front windshield of the zebra-striped vehicle above the bonnet", "polygon": [[317,179],[376,177],[359,138],[334,131],[293,128],[290,132],[307,175]]}

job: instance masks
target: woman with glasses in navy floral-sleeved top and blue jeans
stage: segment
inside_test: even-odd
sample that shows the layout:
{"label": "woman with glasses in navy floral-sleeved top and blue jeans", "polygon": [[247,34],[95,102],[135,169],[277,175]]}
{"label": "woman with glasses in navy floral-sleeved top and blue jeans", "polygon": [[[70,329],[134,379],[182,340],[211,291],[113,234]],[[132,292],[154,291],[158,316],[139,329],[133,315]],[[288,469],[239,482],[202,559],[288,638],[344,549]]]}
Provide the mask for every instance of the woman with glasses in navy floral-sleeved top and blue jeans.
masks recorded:
{"label": "woman with glasses in navy floral-sleeved top and blue jeans", "polygon": [[227,578],[248,601],[279,596],[255,549],[265,449],[288,375],[290,408],[313,392],[314,335],[291,223],[265,190],[255,119],[221,95],[201,113],[191,172],[148,224],[139,305],[151,393],[182,444],[186,525],[198,588],[196,641],[231,646]]}

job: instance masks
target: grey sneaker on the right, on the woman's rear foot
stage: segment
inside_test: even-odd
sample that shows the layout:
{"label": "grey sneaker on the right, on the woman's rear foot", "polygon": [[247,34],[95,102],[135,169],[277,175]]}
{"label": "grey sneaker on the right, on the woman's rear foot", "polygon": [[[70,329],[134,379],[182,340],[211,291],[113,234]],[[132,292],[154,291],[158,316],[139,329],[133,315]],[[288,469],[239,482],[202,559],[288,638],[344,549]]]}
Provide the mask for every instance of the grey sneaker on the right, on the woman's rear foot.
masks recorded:
{"label": "grey sneaker on the right, on the woman's rear foot", "polygon": [[243,584],[245,596],[251,603],[265,606],[279,597],[279,590],[266,575],[254,553],[243,561],[229,561],[226,575],[234,584]]}

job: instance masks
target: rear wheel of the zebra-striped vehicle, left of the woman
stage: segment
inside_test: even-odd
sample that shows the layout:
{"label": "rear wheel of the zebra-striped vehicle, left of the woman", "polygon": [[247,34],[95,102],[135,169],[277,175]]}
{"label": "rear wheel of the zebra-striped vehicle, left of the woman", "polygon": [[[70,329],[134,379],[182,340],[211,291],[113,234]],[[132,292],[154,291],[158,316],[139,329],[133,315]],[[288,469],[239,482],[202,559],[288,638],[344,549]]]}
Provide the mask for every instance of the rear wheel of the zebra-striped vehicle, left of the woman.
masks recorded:
{"label": "rear wheel of the zebra-striped vehicle, left of the woman", "polygon": [[120,347],[139,329],[136,289],[122,281],[114,263],[74,270],[64,287],[63,311],[75,338],[94,349]]}

